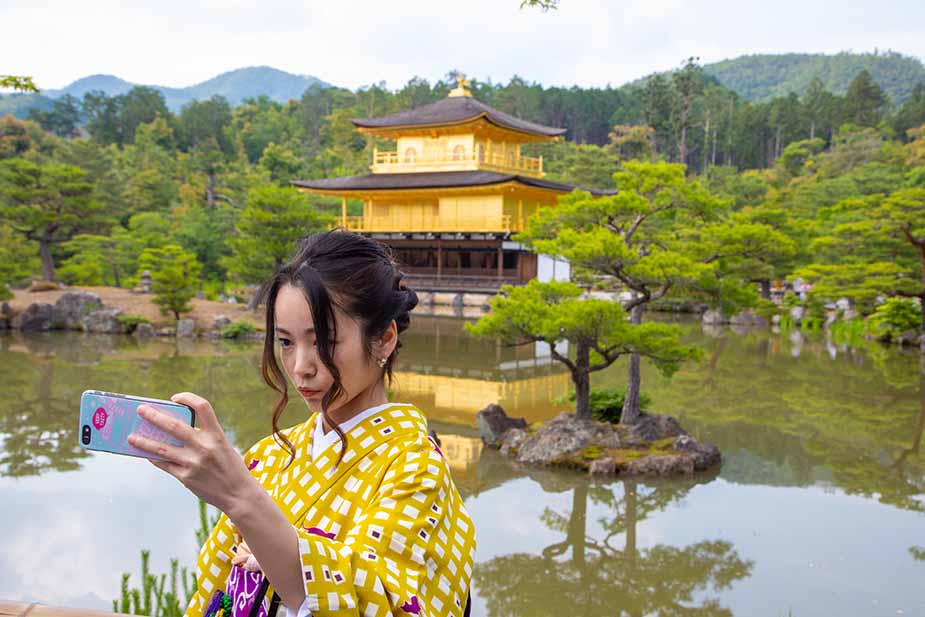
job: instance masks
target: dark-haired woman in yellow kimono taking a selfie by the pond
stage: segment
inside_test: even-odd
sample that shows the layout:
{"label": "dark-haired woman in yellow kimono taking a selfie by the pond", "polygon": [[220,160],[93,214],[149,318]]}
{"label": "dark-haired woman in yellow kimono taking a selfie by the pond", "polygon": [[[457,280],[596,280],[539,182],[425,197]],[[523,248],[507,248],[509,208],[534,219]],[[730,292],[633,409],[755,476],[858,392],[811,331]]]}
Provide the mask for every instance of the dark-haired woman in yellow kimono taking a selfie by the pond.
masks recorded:
{"label": "dark-haired woman in yellow kimono taking a selfie by the pond", "polygon": [[[172,400],[195,410],[198,429],[140,409],[185,447],[130,443],[223,513],[187,615],[272,614],[277,599],[300,617],[468,613],[472,521],[424,415],[386,395],[417,304],[401,278],[382,246],[332,231],[304,240],[264,285],[262,372],[280,398],[273,434],[243,458],[195,394]],[[281,431],[286,376],[313,413]],[[246,599],[253,612],[222,594],[245,572],[266,581],[262,601]]]}

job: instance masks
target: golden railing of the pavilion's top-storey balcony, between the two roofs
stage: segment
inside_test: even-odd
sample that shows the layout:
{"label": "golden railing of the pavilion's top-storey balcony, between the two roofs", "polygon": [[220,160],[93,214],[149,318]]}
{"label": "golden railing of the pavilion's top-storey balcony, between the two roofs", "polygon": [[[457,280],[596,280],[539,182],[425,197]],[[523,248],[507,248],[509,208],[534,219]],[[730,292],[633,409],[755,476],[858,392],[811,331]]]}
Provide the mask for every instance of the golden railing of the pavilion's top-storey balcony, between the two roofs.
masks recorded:
{"label": "golden railing of the pavilion's top-storey balcony, between the two roofs", "polygon": [[417,153],[373,151],[373,173],[415,173],[428,171],[465,171],[486,169],[500,173],[543,177],[543,157],[517,156],[515,152],[498,152],[477,145],[474,151],[448,150]]}

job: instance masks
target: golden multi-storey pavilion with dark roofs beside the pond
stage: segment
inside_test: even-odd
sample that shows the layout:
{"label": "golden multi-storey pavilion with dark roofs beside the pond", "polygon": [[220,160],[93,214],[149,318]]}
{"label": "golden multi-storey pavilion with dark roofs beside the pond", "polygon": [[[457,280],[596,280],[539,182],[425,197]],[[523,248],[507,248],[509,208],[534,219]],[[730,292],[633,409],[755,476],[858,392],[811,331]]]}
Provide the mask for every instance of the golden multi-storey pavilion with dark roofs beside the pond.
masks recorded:
{"label": "golden multi-storey pavilion with dark roofs beside the pond", "polygon": [[[396,144],[374,150],[371,173],[293,184],[341,197],[339,224],[388,245],[416,289],[491,291],[532,278],[567,279],[567,263],[511,241],[540,206],[575,188],[544,179],[542,157],[521,153],[524,144],[557,140],[566,129],[493,109],[466,86],[457,77],[436,103],[353,120],[361,133]],[[348,199],[362,200],[362,216],[347,215]]]}

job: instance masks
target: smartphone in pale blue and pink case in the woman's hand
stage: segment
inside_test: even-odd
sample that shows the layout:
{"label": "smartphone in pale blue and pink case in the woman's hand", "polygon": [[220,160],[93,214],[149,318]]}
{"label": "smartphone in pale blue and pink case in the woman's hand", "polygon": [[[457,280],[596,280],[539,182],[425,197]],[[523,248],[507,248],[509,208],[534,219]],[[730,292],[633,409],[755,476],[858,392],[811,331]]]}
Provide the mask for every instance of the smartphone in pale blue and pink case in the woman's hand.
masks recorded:
{"label": "smartphone in pale blue and pink case in the woman's hand", "polygon": [[178,439],[138,415],[138,408],[145,404],[194,426],[196,415],[186,405],[156,398],[87,390],[80,396],[80,445],[87,450],[164,460],[128,442],[129,435],[138,433],[149,439],[183,447]]}

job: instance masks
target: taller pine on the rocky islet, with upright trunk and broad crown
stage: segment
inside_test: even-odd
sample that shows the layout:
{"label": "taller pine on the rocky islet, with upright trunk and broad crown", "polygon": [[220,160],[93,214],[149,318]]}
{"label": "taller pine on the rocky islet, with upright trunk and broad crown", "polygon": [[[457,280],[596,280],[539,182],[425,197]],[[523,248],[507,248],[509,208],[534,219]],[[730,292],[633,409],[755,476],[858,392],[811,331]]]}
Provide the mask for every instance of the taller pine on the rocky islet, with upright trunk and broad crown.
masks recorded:
{"label": "taller pine on the rocky islet, with upright trunk and broad crown", "polygon": [[[579,277],[629,292],[625,307],[635,325],[651,302],[669,294],[709,294],[729,308],[741,302],[747,286],[732,275],[735,260],[751,247],[745,241],[750,236],[728,247],[692,236],[705,222],[718,221],[722,202],[685,179],[679,164],[628,161],[614,178],[616,195],[594,199],[572,193],[557,207],[541,209],[519,239],[540,253],[568,259]],[[641,338],[640,347],[644,342]],[[621,420],[627,424],[640,413],[641,352],[630,355]]]}

